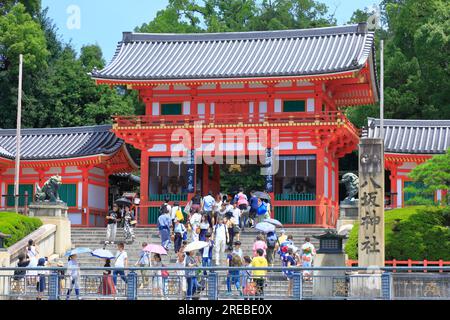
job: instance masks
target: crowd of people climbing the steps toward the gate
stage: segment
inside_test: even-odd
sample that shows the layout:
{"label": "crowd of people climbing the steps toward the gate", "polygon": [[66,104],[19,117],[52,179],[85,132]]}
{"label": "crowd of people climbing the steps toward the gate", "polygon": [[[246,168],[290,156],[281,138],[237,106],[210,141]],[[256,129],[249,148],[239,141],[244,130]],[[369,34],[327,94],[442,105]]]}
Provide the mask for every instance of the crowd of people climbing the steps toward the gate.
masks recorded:
{"label": "crowd of people climbing the steps toward the gate", "polygon": [[[208,271],[201,267],[227,266],[227,267],[270,267],[274,266],[275,259],[279,257],[281,264],[287,267],[283,272],[289,280],[288,295],[292,294],[293,272],[288,268],[301,266],[310,268],[316,254],[314,245],[306,238],[305,243],[298,248],[294,244],[292,235],[287,235],[285,230],[277,232],[260,232],[252,246],[251,252],[243,252],[240,234],[245,228],[254,228],[255,225],[270,217],[270,201],[255,196],[251,193],[250,199],[243,190],[229,198],[221,194],[213,197],[209,192],[205,197],[197,193],[185,206],[184,213],[180,203],[170,203],[166,199],[160,207],[158,217],[158,230],[161,246],[168,252],[173,248],[176,254],[175,266],[177,279],[180,280],[180,289],[183,296],[190,300],[196,294],[206,288]],[[106,217],[107,243],[114,243],[117,226],[122,223],[124,238],[134,240],[135,216],[129,206],[120,209],[115,204]],[[208,245],[200,250],[187,251],[186,246],[190,242],[204,241]],[[100,282],[98,293],[105,296],[115,296],[118,292],[118,281],[127,283],[128,278],[124,269],[130,266],[129,257],[125,250],[125,243],[117,243],[117,252],[114,259],[105,259],[105,268]],[[151,288],[152,295],[163,299],[168,296],[169,272],[164,269],[162,257],[158,253],[150,253],[145,250],[147,243],[141,244],[142,250],[136,257],[134,266],[159,267],[156,271],[140,270],[139,288]],[[111,261],[113,260],[113,261]],[[18,267],[43,267],[42,271],[27,270],[17,271],[14,279],[22,281],[26,277],[27,282],[36,285],[37,298],[42,299],[46,290],[46,266],[63,267],[59,262],[51,265],[46,258],[39,258],[39,250],[32,240],[28,243],[26,253],[19,255]],[[199,267],[197,270],[187,269]],[[76,298],[80,299],[80,265],[77,255],[68,258],[66,271],[60,271],[60,293],[63,291],[63,280],[67,277],[69,285],[66,299],[70,299],[72,291]],[[172,277],[173,278],[173,277]],[[305,269],[303,278],[311,280],[311,273]],[[245,299],[262,299],[264,296],[266,270],[229,270],[226,275],[226,295],[232,295],[233,288]],[[28,283],[30,284],[30,283]]]}

